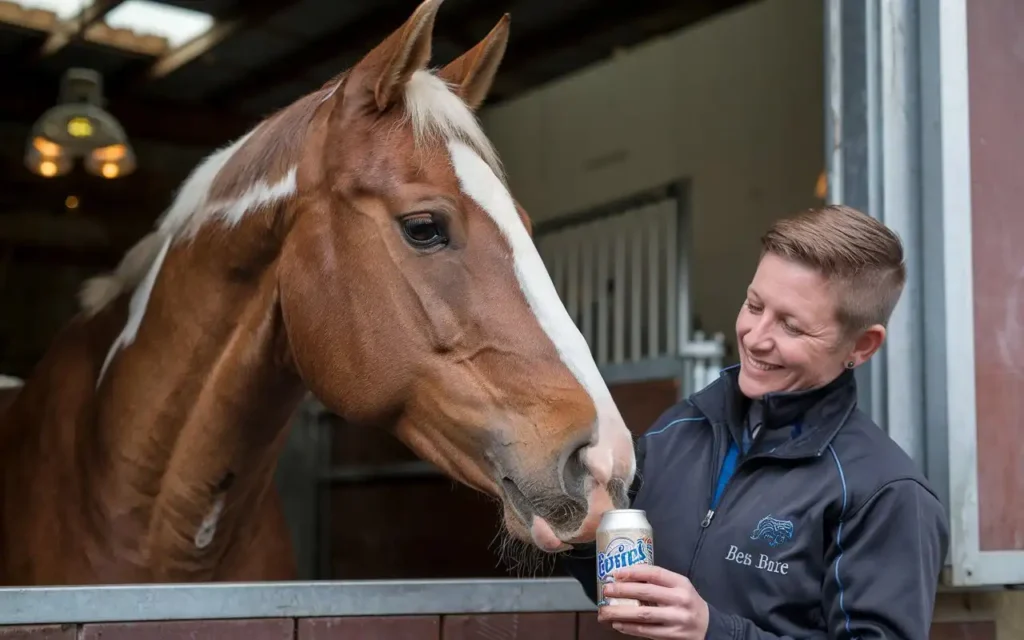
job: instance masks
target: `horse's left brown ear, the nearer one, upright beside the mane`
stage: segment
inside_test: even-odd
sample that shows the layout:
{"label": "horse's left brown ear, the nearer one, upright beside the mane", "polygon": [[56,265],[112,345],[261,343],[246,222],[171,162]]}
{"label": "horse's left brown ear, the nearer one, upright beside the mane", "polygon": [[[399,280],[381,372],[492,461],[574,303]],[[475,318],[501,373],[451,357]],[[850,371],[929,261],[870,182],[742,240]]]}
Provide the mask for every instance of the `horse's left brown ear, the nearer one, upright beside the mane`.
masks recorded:
{"label": "horse's left brown ear, the nearer one, upright beside the mane", "polygon": [[[434,17],[443,0],[424,0],[401,27],[352,68],[360,89],[373,91],[377,109],[396,101],[413,74],[430,61]],[[356,80],[357,79],[357,80]]]}

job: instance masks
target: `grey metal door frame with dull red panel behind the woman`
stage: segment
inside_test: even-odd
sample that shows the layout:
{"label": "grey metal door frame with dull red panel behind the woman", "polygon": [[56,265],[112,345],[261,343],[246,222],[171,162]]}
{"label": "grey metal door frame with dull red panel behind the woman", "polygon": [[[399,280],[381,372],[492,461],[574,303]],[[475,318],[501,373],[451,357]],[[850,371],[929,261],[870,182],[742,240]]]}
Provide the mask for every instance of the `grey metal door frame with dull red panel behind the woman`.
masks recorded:
{"label": "grey metal door frame with dull red panel behind the woman", "polygon": [[829,200],[902,237],[861,404],[948,508],[943,583],[1024,584],[1024,11],[826,0]]}

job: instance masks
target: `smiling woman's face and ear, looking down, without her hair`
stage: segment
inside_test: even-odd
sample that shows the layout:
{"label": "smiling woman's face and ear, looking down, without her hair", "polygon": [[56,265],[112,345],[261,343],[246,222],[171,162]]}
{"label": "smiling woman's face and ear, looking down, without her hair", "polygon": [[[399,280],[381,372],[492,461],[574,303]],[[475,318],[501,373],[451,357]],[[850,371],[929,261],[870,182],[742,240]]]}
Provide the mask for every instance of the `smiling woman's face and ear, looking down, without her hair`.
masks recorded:
{"label": "smiling woman's face and ear, looking down, without her hair", "polygon": [[860,365],[885,329],[847,337],[837,319],[836,292],[815,269],[766,254],[736,316],[739,387],[748,397],[827,384],[846,362]]}

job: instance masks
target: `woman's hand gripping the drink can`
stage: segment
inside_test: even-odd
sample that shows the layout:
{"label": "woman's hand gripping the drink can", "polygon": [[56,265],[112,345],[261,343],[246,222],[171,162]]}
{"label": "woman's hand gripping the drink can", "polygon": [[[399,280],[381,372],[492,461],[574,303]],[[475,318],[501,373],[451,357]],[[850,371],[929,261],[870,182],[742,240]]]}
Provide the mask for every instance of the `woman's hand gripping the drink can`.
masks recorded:
{"label": "woman's hand gripping the drink can", "polygon": [[612,577],[614,582],[604,586],[606,597],[633,598],[642,604],[604,605],[598,609],[598,621],[641,638],[705,639],[708,603],[685,577],[649,564],[618,569]]}

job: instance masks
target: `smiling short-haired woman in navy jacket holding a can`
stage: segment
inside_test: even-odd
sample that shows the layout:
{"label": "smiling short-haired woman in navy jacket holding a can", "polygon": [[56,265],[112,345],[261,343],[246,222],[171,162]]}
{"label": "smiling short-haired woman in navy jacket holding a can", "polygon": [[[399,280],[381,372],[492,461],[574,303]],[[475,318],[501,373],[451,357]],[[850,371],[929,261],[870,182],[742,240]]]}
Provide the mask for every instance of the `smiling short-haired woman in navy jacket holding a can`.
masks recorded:
{"label": "smiling short-haired woman in navy jacket holding a can", "polygon": [[[736,317],[739,365],[637,443],[633,507],[657,566],[614,572],[598,617],[644,638],[929,635],[948,545],[942,504],[857,408],[885,339],[899,239],[825,207],[777,222]],[[592,599],[594,550],[564,561]]]}

